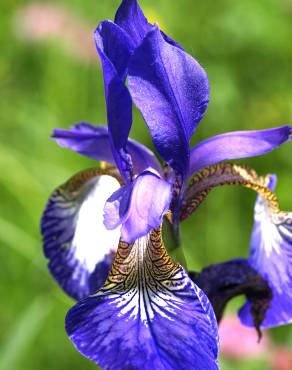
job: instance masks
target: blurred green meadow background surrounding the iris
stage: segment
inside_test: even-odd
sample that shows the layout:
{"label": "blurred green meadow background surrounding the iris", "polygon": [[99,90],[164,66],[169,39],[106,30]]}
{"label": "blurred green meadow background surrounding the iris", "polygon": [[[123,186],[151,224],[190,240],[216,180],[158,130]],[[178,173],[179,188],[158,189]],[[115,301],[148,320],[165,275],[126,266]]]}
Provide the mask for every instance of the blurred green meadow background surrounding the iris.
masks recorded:
{"label": "blurred green meadow background surrounding the iris", "polygon": [[[73,301],[47,271],[39,220],[56,186],[96,165],[57,147],[49,136],[55,127],[82,120],[105,124],[92,31],[100,20],[113,18],[119,3],[1,0],[1,370],[96,369],[65,334],[64,316]],[[227,130],[291,122],[291,0],[140,3],[208,72],[211,102],[193,144]],[[137,112],[131,136],[152,147]],[[244,163],[277,173],[282,208],[291,210],[292,146]],[[239,188],[220,188],[208,197],[183,225],[189,268],[248,255],[254,200],[252,192]],[[228,315],[240,304],[234,302]],[[260,348],[256,334],[241,331],[234,317],[227,317],[223,329],[223,370],[292,369],[291,327],[271,330]]]}

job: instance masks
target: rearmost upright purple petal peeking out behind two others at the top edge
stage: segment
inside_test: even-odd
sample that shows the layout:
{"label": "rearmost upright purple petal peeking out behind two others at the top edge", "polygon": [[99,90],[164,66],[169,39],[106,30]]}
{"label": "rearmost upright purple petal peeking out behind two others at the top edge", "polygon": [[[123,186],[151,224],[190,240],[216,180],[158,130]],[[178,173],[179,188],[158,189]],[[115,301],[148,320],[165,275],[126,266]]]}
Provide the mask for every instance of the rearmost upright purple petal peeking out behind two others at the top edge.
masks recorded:
{"label": "rearmost upright purple petal peeking out behind two others at the top edge", "polygon": [[[136,47],[141,44],[146,34],[152,28],[152,24],[147,21],[137,0],[122,1],[115,16],[115,23],[128,33]],[[168,43],[181,48],[176,41],[163,32],[162,36]]]}

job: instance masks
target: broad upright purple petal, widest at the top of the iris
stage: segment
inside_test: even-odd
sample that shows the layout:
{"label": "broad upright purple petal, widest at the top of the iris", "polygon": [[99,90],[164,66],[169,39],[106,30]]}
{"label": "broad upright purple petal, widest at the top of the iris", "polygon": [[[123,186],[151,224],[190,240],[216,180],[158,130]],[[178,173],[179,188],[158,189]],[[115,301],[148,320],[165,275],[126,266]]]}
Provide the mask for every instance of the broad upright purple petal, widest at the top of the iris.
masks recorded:
{"label": "broad upright purple petal, widest at the top of the iris", "polygon": [[209,101],[204,69],[154,26],[130,60],[129,89],[159,154],[186,174],[189,140]]}

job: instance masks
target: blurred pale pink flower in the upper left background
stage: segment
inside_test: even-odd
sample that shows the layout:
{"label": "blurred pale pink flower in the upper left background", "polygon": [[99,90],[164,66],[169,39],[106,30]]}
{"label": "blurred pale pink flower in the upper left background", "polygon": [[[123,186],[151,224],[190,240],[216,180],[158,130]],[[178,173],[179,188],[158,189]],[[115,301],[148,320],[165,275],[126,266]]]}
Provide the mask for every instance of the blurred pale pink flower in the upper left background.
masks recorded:
{"label": "blurred pale pink flower in the upper left background", "polygon": [[15,29],[26,41],[54,39],[66,51],[85,61],[96,61],[92,29],[85,21],[58,5],[30,4],[18,11]]}

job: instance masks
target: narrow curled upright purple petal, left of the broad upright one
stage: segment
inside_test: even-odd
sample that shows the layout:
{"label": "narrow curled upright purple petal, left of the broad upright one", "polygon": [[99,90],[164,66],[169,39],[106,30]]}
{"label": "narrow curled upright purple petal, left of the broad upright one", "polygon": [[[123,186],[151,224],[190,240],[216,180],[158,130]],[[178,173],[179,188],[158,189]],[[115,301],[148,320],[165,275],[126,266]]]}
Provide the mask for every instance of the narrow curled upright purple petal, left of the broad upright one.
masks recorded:
{"label": "narrow curled upright purple petal, left of the broad upright one", "polygon": [[94,33],[100,56],[107,107],[109,139],[113,156],[123,177],[131,177],[131,159],[126,152],[132,125],[132,99],[125,86],[125,78],[133,45],[119,26],[102,22]]}

